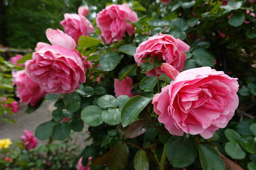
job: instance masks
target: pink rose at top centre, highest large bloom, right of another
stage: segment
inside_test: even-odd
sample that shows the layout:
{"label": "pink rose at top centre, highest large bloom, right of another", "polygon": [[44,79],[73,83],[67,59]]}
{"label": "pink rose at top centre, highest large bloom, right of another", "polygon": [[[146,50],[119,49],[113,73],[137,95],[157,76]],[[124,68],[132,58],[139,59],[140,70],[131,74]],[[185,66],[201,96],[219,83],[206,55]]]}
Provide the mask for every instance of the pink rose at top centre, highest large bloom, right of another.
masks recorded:
{"label": "pink rose at top centre, highest large bloom, right of another", "polygon": [[132,36],[135,31],[130,22],[137,22],[138,16],[133,12],[128,4],[107,6],[97,14],[96,23],[101,30],[101,35],[107,44],[117,39],[123,39],[125,32]]}

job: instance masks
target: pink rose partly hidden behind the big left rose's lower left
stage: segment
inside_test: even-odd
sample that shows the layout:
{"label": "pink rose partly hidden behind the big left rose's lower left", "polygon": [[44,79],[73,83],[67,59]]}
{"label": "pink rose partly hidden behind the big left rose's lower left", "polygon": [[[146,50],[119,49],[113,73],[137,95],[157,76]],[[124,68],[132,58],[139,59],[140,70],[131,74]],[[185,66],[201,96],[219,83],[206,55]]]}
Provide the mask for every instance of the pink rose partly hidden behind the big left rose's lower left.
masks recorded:
{"label": "pink rose partly hidden behind the big left rose's lower left", "polygon": [[13,83],[17,85],[17,96],[22,103],[30,103],[31,106],[34,106],[47,94],[26,75],[25,70],[12,72],[12,77],[14,78]]}

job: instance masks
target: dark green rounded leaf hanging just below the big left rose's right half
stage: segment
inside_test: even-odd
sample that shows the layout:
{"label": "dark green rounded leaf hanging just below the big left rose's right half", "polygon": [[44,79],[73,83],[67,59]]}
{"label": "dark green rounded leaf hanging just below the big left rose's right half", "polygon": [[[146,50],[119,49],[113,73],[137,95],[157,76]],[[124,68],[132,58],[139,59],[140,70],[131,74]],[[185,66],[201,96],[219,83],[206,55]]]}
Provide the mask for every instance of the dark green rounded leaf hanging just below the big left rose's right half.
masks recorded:
{"label": "dark green rounded leaf hanging just below the big left rose's right half", "polygon": [[65,109],[67,109],[67,111],[75,112],[80,108],[81,98],[76,92],[65,94],[63,100],[67,101],[67,103],[65,104]]}

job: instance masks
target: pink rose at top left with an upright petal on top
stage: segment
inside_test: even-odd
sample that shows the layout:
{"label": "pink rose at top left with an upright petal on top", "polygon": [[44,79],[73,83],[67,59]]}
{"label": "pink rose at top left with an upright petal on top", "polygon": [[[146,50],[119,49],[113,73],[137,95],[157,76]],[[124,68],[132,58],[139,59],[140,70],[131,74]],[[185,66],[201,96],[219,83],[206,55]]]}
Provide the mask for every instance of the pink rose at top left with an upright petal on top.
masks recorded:
{"label": "pink rose at top left with an upright petal on top", "polygon": [[71,36],[77,43],[80,36],[89,36],[87,30],[94,32],[93,26],[87,18],[89,10],[85,6],[78,8],[78,14],[64,14],[64,20],[60,22],[66,34]]}

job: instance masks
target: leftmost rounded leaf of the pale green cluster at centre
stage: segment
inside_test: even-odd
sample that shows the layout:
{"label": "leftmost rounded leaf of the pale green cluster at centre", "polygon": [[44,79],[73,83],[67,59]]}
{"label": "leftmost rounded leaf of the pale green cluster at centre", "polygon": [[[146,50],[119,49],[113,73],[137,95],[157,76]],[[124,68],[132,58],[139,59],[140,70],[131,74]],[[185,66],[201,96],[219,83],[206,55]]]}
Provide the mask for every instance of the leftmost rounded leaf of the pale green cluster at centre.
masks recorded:
{"label": "leftmost rounded leaf of the pale green cluster at centre", "polygon": [[81,119],[88,125],[96,127],[103,123],[101,113],[103,109],[98,106],[87,106],[81,112]]}

